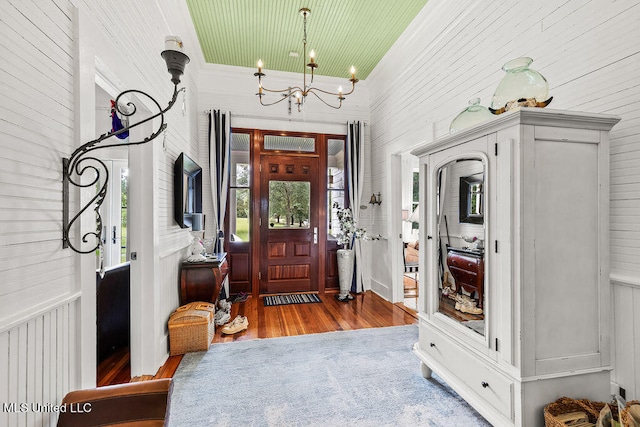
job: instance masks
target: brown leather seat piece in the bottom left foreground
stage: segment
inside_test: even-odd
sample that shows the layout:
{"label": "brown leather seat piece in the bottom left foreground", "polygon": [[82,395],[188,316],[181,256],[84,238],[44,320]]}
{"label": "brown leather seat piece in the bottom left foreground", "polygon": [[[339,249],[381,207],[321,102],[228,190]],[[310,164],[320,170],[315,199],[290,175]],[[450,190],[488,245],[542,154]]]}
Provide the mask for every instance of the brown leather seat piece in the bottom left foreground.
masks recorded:
{"label": "brown leather seat piece in the bottom left foreground", "polygon": [[69,392],[58,427],[164,426],[172,387],[171,379],[161,379]]}

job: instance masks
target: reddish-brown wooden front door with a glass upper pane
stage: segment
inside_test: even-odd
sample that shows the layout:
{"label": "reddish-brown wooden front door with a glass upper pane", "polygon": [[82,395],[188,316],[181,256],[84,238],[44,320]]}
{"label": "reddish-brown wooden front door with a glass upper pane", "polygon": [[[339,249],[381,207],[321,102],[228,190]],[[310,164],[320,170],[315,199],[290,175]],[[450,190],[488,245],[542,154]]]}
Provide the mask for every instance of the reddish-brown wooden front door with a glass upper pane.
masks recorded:
{"label": "reddish-brown wooden front door with a glass upper pane", "polygon": [[260,161],[260,293],[318,290],[318,157]]}

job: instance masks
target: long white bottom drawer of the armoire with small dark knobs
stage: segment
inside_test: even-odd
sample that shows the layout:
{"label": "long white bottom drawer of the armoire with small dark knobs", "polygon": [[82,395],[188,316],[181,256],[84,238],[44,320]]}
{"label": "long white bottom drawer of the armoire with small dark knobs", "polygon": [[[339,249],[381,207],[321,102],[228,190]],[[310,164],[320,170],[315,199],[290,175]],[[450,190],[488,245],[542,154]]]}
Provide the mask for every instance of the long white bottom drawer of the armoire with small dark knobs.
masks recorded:
{"label": "long white bottom drawer of the armoire with small dark knobs", "polygon": [[426,322],[420,324],[420,348],[463,382],[468,390],[512,419],[513,381]]}

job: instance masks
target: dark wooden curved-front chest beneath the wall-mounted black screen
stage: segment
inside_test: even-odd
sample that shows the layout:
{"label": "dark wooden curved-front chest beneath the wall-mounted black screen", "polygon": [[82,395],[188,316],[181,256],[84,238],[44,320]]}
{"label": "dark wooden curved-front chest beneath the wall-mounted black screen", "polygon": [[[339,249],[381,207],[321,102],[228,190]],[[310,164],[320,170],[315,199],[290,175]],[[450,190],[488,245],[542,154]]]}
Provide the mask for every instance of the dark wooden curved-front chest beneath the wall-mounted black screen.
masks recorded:
{"label": "dark wooden curved-front chest beneath the wall-mounted black screen", "polygon": [[180,305],[194,301],[216,303],[220,290],[228,280],[227,254],[217,254],[215,260],[184,261],[180,269]]}

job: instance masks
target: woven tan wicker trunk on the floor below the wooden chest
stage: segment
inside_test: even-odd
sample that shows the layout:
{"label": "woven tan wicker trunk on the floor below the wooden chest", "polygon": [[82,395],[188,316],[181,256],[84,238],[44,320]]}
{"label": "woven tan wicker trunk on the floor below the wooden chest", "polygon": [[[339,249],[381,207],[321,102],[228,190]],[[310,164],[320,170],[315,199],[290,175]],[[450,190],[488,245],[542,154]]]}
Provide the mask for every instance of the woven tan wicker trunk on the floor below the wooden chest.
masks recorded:
{"label": "woven tan wicker trunk on the floor below the wooden chest", "polygon": [[179,307],[169,317],[169,347],[171,356],[209,349],[215,323],[215,306],[208,302],[190,302]]}

